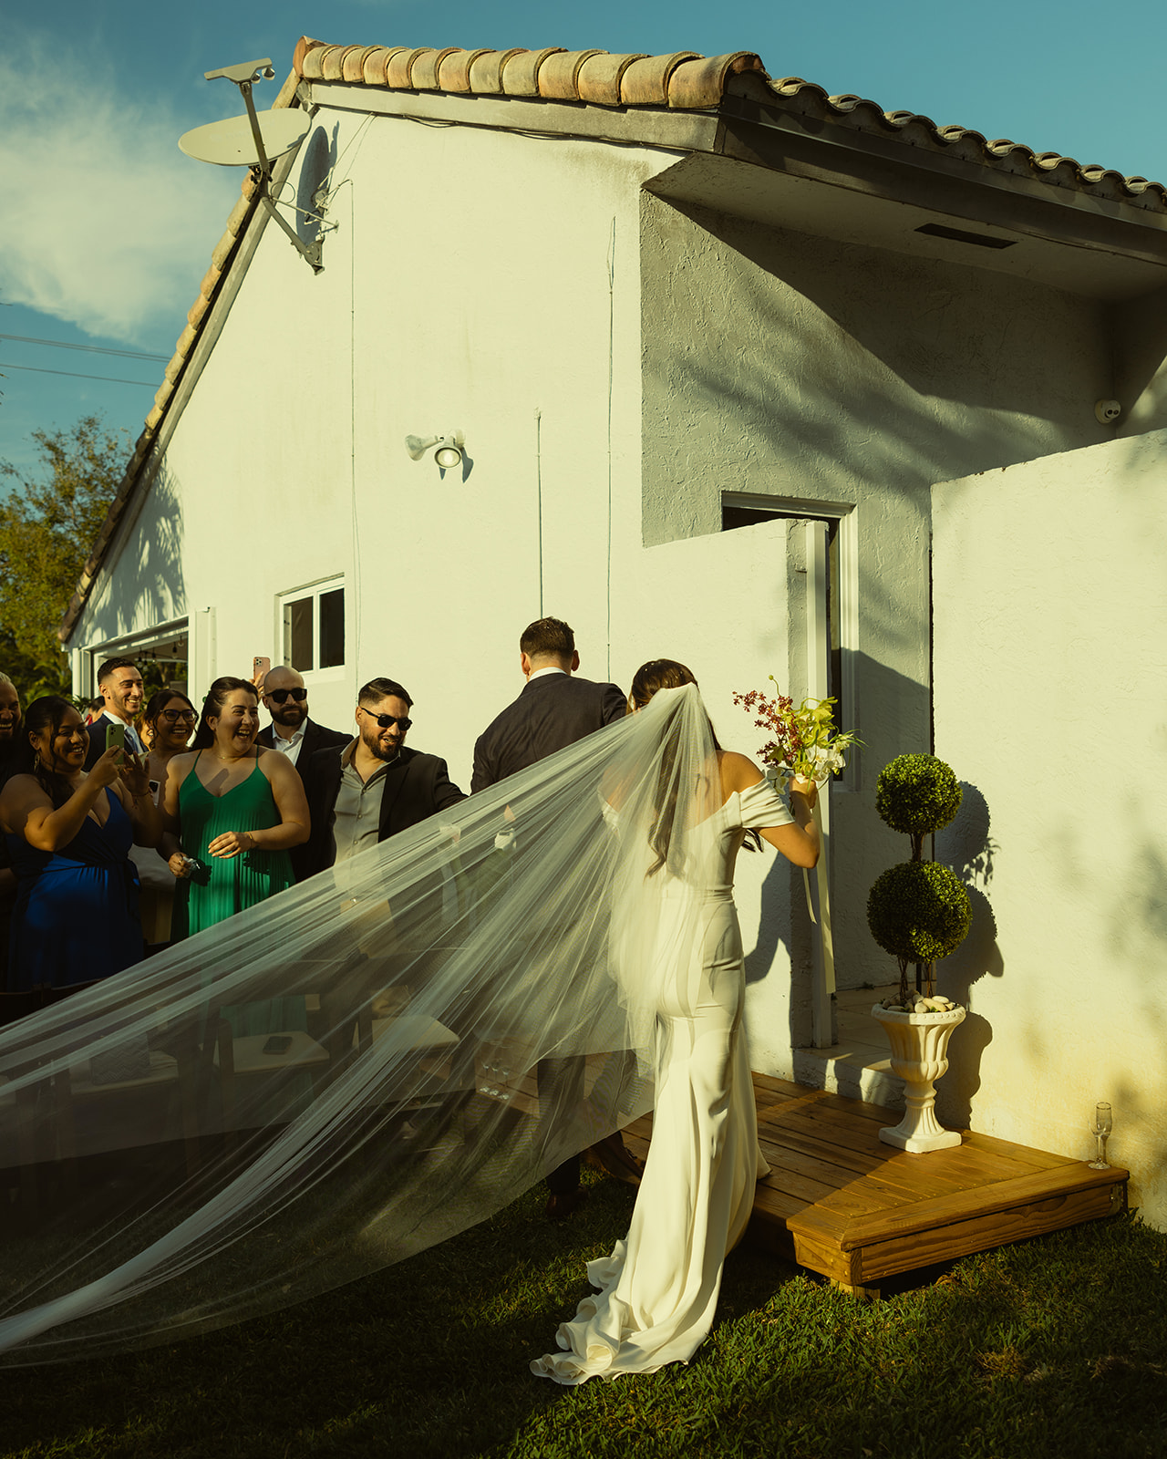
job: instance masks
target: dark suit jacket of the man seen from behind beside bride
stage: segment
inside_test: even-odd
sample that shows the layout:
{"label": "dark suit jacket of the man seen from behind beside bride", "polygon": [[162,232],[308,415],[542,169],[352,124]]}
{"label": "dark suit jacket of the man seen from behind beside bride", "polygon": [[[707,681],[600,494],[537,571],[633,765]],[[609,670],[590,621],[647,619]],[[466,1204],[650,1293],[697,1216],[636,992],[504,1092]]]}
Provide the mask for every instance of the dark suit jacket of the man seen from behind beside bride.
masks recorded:
{"label": "dark suit jacket of the man seen from behind beside bride", "polygon": [[478,735],[471,791],[484,791],[594,730],[623,719],[626,708],[624,692],[616,684],[594,684],[570,674],[530,680],[519,697]]}

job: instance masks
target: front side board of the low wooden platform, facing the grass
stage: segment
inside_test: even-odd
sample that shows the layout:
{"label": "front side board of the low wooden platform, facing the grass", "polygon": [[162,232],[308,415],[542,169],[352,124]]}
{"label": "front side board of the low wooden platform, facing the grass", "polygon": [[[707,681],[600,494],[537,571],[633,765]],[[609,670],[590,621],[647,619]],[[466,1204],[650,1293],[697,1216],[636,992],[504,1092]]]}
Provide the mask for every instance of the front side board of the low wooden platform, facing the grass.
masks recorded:
{"label": "front side board of the low wooden platform, facing the grass", "polygon": [[929,1266],[932,1262],[953,1261],[970,1252],[985,1252],[1009,1242],[1024,1242],[1082,1221],[1097,1221],[1110,1215],[1110,1186],[1098,1185],[1085,1191],[1071,1191],[1047,1201],[1034,1201],[1005,1211],[973,1215],[947,1226],[923,1227],[894,1240],[858,1247],[859,1281],[874,1282],[881,1277]]}

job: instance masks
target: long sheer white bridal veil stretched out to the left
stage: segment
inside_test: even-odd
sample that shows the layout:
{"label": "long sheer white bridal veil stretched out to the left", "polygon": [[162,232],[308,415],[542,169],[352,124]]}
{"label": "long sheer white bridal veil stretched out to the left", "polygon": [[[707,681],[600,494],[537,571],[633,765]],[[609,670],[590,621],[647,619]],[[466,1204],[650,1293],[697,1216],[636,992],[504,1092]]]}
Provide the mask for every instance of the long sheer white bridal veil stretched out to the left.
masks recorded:
{"label": "long sheer white bridal veil stretched out to the left", "polygon": [[719,800],[696,687],[662,692],[1,1030],[0,1361],[301,1301],[648,1110],[694,966],[667,889]]}

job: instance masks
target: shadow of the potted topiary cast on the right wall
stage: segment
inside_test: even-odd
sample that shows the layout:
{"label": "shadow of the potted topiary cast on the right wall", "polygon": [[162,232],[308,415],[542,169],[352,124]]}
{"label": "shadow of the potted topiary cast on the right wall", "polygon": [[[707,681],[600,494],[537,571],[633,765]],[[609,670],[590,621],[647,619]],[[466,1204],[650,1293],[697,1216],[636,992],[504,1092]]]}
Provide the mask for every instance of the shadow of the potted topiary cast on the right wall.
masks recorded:
{"label": "shadow of the potted topiary cast on the right wall", "polygon": [[972,989],[982,978],[1004,978],[1005,960],[996,941],[993,909],[985,894],[999,849],[989,833],[989,805],[974,785],[961,781],[960,788],[964,792],[960,810],[955,820],[937,833],[934,855],[964,883],[973,905],[973,924],[955,953],[939,963],[937,989],[969,1011],[948,1046],[948,1072],[937,1085],[937,1113],[942,1123],[967,1129],[980,1088],[980,1064],[993,1037],[988,1018],[972,1007]]}

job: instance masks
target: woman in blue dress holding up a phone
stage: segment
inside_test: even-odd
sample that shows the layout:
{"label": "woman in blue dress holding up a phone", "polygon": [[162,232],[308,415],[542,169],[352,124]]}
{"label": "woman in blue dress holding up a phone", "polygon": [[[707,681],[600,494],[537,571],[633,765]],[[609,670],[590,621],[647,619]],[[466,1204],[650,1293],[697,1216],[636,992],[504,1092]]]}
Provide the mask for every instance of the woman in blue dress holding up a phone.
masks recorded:
{"label": "woman in blue dress holding up a phone", "polygon": [[143,954],[130,846],[158,845],[162,818],[137,756],[109,748],[86,773],[88,747],[67,699],[29,705],[18,773],[0,794],[18,881],[12,989],[93,982]]}

